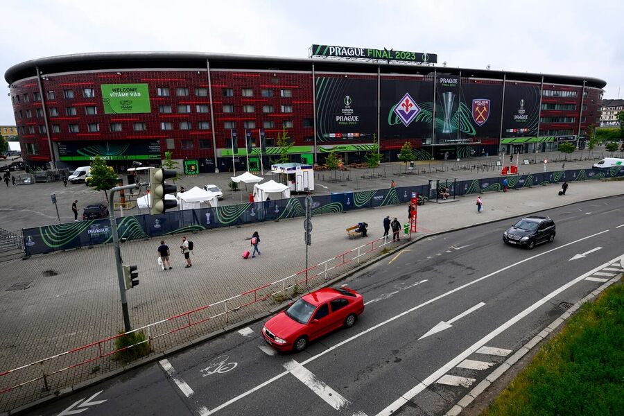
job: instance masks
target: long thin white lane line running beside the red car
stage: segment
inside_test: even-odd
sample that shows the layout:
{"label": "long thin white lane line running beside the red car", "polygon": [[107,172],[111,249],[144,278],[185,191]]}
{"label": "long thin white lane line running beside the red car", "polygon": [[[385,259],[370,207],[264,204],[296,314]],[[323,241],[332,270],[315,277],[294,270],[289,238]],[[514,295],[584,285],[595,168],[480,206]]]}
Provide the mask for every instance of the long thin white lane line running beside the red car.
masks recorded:
{"label": "long thin white lane line running beside the red car", "polygon": [[[527,261],[532,261],[533,259],[537,259],[537,257],[541,257],[541,256],[544,256],[545,254],[549,254],[551,252],[555,252],[557,250],[561,250],[562,248],[566,248],[569,245],[572,245],[572,244],[575,244],[575,243],[578,243],[580,241],[584,241],[584,240],[587,240],[587,239],[591,239],[591,238],[593,238],[595,236],[599,236],[600,234],[605,234],[605,232],[609,232],[609,230],[605,229],[604,231],[597,232],[596,234],[591,234],[589,236],[582,237],[581,239],[578,239],[578,240],[575,240],[575,241],[571,241],[570,243],[566,243],[566,244],[557,246],[555,248],[551,248],[551,250],[546,250],[545,252],[541,252],[541,253],[535,254],[534,256],[527,257],[526,259],[522,259],[520,261],[517,261],[516,263],[512,263],[512,264],[510,264],[508,266],[505,266],[505,267],[503,267],[503,268],[501,268],[499,270],[495,270],[494,272],[491,272],[488,275],[485,275],[483,277],[479,277],[478,279],[475,279],[473,281],[469,281],[466,284],[462,284],[461,286],[458,286],[458,287],[456,287],[454,289],[451,289],[448,292],[442,293],[441,295],[437,295],[436,297],[433,297],[430,300],[427,300],[426,302],[423,302],[422,304],[418,304],[416,306],[413,306],[413,308],[408,309],[406,311],[403,311],[403,312],[399,313],[398,315],[393,316],[392,318],[388,318],[387,320],[385,320],[383,322],[379,322],[379,324],[375,324],[372,327],[361,331],[360,333],[356,333],[354,336],[352,336],[350,338],[347,338],[346,340],[340,341],[340,343],[338,343],[336,345],[333,345],[332,347],[329,347],[329,348],[325,349],[324,351],[320,352],[319,354],[316,354],[315,356],[312,356],[312,357],[308,358],[306,361],[304,361],[302,363],[302,365],[306,365],[306,364],[310,363],[311,361],[314,361],[317,358],[320,358],[320,357],[324,356],[325,354],[329,354],[329,352],[332,352],[334,349],[342,347],[343,345],[345,345],[347,343],[350,343],[353,340],[356,340],[356,339],[360,338],[361,336],[366,335],[367,333],[369,333],[371,331],[374,331],[374,330],[376,330],[376,329],[378,329],[380,327],[383,327],[384,325],[389,324],[390,322],[392,322],[394,320],[397,320],[397,319],[403,317],[404,315],[407,315],[408,313],[416,311],[417,309],[421,309],[422,307],[427,306],[429,304],[433,304],[433,302],[435,302],[437,300],[443,299],[444,297],[452,295],[453,293],[456,293],[456,292],[461,291],[461,290],[463,290],[463,289],[465,289],[465,288],[467,288],[469,286],[477,284],[479,281],[488,279],[489,277],[492,277],[494,275],[498,275],[499,273],[504,272],[505,270],[509,270],[510,268],[518,266],[519,264],[526,263]],[[596,268],[596,269],[592,270],[591,272],[589,272],[587,274],[587,276],[591,275],[591,273],[594,272],[594,271],[602,270],[606,266],[612,266],[613,263],[616,263],[616,261],[620,261],[621,259],[624,259],[624,255],[622,255],[621,257],[618,257],[618,258],[616,258],[616,259],[614,259],[612,261],[609,261],[609,263],[603,264],[603,266],[600,266],[599,268]],[[463,358],[467,358],[467,357],[463,357]],[[283,372],[281,374],[277,374],[277,376],[274,376],[271,379],[268,379],[264,383],[261,383],[261,384],[257,385],[256,387],[251,388],[250,390],[247,390],[246,392],[243,392],[240,395],[238,395],[236,397],[233,397],[232,399],[229,399],[225,403],[220,404],[219,406],[217,406],[216,408],[211,410],[211,413],[215,413],[218,410],[226,408],[230,404],[236,403],[236,401],[239,401],[240,399],[243,399],[244,397],[247,397],[248,395],[252,394],[253,392],[255,392],[257,390],[260,390],[261,388],[263,388],[266,385],[269,385],[270,383],[272,383],[275,380],[279,380],[281,377],[285,376],[286,374],[288,374],[288,372]],[[442,376],[443,374],[440,374],[440,376]],[[438,376],[438,378],[440,376]],[[418,393],[416,393],[416,394],[418,394]]]}

